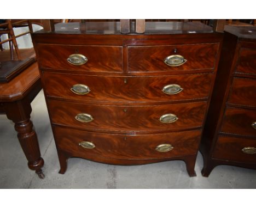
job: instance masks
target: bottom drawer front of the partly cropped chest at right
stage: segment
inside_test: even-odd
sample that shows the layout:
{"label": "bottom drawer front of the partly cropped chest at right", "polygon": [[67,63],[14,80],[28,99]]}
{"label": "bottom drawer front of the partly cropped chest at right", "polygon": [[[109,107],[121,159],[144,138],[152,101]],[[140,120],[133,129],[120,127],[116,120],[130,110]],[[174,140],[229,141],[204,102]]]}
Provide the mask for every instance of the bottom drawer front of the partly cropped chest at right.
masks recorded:
{"label": "bottom drawer front of the partly cropped chest at right", "polygon": [[256,163],[256,139],[219,136],[212,157],[233,162]]}

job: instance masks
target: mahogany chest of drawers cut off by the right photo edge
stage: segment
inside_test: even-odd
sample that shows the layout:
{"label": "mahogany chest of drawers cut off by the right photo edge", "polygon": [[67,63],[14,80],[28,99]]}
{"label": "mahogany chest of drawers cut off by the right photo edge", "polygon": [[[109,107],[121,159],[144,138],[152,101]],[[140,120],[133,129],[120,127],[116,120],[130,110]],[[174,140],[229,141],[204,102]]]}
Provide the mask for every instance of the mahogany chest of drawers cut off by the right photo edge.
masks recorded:
{"label": "mahogany chest of drawers cut off by the right photo edge", "polygon": [[255,27],[225,27],[200,151],[203,176],[220,164],[256,168]]}

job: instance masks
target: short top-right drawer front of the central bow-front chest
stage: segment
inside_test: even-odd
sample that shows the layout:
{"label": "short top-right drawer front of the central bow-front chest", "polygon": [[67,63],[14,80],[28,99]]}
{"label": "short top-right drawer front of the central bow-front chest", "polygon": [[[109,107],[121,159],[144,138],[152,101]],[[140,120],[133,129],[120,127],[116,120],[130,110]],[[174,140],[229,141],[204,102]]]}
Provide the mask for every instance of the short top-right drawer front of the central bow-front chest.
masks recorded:
{"label": "short top-right drawer front of the central bow-front chest", "polygon": [[[171,45],[171,46],[130,46],[128,47],[129,71],[158,72],[158,71],[189,71],[197,69],[214,69],[219,44]],[[185,63],[179,55],[187,60]],[[173,59],[179,66],[167,65],[164,60]],[[175,61],[174,61],[175,62]],[[178,63],[181,62],[181,63]]]}

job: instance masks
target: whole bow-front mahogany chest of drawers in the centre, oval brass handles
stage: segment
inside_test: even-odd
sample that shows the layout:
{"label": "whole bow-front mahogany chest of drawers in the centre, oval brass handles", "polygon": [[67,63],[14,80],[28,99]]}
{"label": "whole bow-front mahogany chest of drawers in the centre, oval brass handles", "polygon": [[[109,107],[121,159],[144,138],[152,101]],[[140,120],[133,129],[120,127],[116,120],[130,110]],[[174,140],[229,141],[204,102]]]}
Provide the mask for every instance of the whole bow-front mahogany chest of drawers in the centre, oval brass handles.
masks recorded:
{"label": "whole bow-front mahogany chest of drawers in the centre, oval brass handles", "polygon": [[68,23],[32,35],[60,160],[183,160],[190,176],[223,34],[201,23]]}

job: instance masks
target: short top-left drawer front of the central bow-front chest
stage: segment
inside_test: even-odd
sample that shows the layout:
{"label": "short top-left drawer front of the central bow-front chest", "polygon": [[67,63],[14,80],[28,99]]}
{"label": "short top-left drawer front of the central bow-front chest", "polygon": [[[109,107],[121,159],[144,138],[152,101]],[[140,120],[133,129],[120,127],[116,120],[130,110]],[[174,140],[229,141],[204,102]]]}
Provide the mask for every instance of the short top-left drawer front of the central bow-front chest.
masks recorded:
{"label": "short top-left drawer front of the central bow-front chest", "polygon": [[[41,68],[62,69],[89,72],[122,72],[123,48],[120,46],[72,46],[72,45],[37,45]],[[74,65],[68,62],[72,54],[82,54],[87,62]],[[72,59],[73,63],[79,57]]]}

